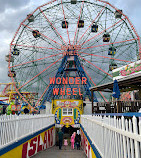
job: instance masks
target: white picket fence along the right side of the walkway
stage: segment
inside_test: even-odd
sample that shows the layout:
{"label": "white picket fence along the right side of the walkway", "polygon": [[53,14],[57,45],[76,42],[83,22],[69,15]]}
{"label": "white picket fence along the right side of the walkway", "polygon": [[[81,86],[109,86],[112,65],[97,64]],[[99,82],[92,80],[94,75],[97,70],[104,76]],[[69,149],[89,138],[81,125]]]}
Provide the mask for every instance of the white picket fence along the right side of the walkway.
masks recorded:
{"label": "white picket fence along the right side of the walkway", "polygon": [[141,158],[141,120],[82,115],[81,124],[102,158]]}

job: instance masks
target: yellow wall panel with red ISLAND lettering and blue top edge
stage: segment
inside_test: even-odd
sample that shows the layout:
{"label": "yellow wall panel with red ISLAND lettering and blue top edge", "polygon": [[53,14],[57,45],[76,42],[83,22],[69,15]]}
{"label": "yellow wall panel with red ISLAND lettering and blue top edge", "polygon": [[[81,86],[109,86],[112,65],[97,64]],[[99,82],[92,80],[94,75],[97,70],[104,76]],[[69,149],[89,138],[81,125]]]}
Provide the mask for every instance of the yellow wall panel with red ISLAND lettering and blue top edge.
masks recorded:
{"label": "yellow wall panel with red ISLAND lettering and blue top edge", "polygon": [[39,151],[54,146],[55,126],[53,125],[51,128],[37,134],[36,136],[33,134],[33,137],[29,140],[27,140],[28,137],[1,149],[0,158],[30,158]]}

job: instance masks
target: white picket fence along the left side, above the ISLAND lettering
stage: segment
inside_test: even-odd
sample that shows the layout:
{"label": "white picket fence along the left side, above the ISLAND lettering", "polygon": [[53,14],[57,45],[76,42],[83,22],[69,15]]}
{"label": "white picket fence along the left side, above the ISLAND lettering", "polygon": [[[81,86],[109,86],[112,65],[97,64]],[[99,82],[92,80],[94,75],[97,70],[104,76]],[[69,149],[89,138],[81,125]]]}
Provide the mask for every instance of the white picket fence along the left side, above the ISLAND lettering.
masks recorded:
{"label": "white picket fence along the left side, above the ISLAND lettering", "polygon": [[0,148],[54,124],[54,115],[0,116]]}

